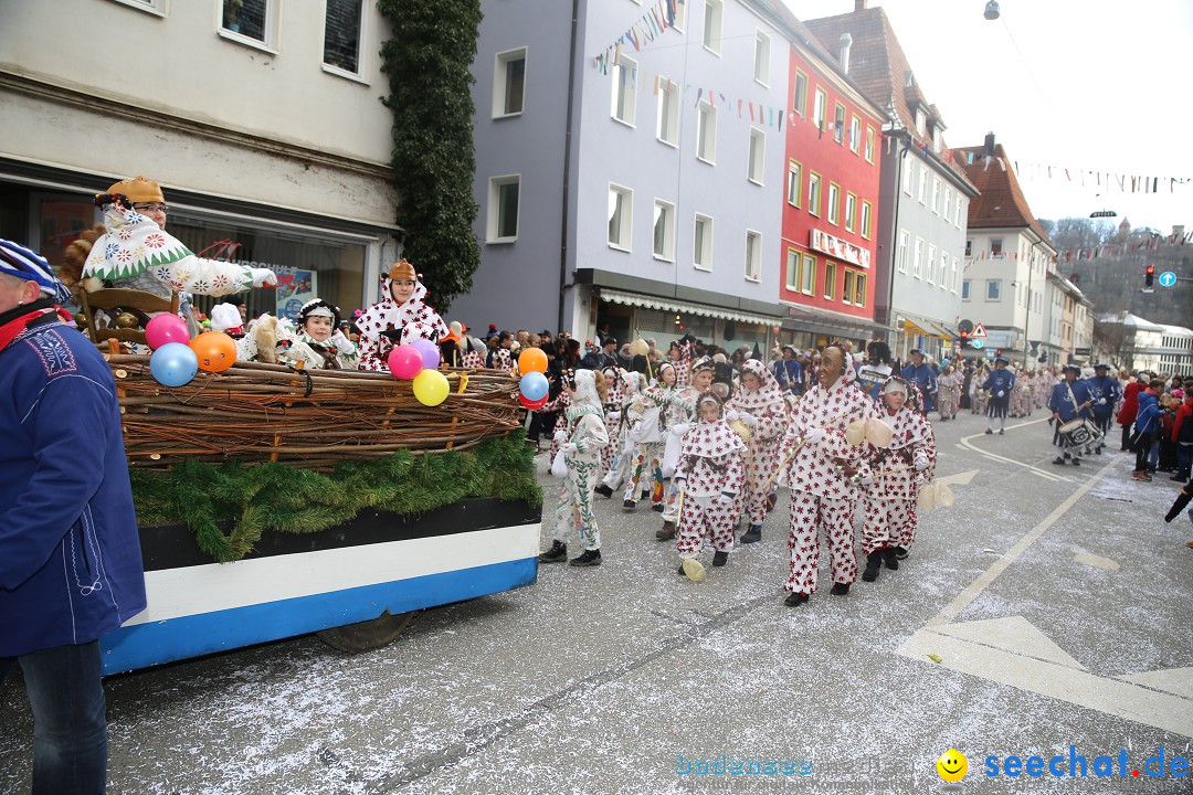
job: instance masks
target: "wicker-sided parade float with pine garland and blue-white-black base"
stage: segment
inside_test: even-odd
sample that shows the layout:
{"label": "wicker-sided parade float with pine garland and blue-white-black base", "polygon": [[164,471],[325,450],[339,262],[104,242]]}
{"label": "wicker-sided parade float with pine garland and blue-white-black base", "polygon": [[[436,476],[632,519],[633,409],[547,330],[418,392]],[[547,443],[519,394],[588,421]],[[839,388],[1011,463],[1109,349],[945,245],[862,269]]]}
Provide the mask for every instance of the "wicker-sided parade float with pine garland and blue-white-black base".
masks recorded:
{"label": "wicker-sided parade float with pine garland and blue-white-black base", "polygon": [[418,610],[534,582],[542,492],[507,373],[307,369],[206,342],[107,343],[148,609],[104,639],[105,673],[313,632],[363,651]]}

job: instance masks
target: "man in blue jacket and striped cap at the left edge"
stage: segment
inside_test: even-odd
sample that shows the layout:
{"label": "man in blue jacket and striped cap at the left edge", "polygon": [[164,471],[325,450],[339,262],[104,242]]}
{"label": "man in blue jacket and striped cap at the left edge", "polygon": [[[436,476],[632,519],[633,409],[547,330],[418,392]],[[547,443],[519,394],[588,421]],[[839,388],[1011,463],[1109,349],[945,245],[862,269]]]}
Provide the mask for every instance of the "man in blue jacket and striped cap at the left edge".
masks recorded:
{"label": "man in blue jacket and striped cap at the left edge", "polygon": [[35,795],[105,791],[99,639],[146,608],[116,383],[69,297],[0,241],[0,682],[20,666]]}

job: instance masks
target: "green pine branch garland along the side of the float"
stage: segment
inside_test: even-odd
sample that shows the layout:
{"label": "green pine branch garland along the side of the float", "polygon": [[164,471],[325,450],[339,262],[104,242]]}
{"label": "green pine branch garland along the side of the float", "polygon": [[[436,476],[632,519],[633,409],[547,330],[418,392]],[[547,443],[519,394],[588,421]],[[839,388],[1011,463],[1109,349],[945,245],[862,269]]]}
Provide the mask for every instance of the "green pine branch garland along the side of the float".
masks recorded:
{"label": "green pine branch garland along the side of the float", "polygon": [[[319,533],[372,508],[416,516],[469,497],[542,505],[534,454],[521,431],[466,452],[345,461],[332,474],[282,464],[187,461],[168,471],[131,470],[141,524],[185,522],[217,563],[240,560],[265,532]],[[233,521],[228,535],[221,522]]]}

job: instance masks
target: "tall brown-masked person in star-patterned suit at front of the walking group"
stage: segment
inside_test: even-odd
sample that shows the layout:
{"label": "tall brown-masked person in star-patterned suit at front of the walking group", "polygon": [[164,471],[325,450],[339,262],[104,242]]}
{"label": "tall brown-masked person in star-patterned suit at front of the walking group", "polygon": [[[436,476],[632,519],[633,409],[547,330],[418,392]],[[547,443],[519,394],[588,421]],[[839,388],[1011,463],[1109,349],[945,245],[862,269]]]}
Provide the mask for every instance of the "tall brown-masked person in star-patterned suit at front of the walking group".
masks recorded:
{"label": "tall brown-masked person in star-patterned suit at front of the walking group", "polygon": [[[853,356],[840,344],[824,348],[816,377],[796,404],[779,448],[778,479],[791,489],[791,564],[784,583],[789,607],[803,604],[816,591],[822,535],[829,545],[832,594],[843,596],[857,582],[853,515],[861,487],[853,476],[869,471],[873,441],[883,441],[879,427],[885,427],[874,403],[857,386]],[[846,437],[851,423],[867,420],[877,424],[851,443]]]}

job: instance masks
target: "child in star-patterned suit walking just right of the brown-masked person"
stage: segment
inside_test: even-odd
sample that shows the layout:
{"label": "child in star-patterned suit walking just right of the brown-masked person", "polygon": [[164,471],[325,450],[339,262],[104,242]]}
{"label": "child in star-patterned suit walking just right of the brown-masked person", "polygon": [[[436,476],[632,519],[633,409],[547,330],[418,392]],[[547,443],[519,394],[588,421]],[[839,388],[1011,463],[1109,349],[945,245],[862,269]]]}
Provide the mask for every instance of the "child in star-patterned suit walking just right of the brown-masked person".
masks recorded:
{"label": "child in star-patterned suit walking just right of the brown-masked person", "polygon": [[861,579],[867,583],[878,579],[883,563],[894,571],[908,555],[915,542],[920,485],[932,480],[937,468],[937,439],[920,412],[920,390],[891,375],[882,384],[877,403],[891,427],[891,443],[876,452],[870,474],[859,478],[866,490]]}

